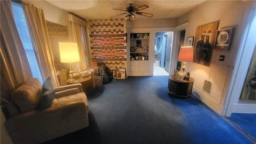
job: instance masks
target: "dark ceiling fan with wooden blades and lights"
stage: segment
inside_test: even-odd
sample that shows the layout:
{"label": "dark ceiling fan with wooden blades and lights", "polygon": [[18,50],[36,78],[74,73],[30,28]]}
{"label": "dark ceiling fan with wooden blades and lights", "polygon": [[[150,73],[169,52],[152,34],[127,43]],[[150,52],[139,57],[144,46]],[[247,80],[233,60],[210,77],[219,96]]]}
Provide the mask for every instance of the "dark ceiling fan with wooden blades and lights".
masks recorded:
{"label": "dark ceiling fan with wooden blades and lights", "polygon": [[[142,16],[148,16],[148,17],[152,17],[153,14],[148,14],[148,13],[145,13],[145,12],[138,12],[139,10],[144,10],[145,8],[149,8],[149,6],[147,5],[143,5],[143,6],[140,6],[138,8],[135,8],[134,6],[132,6],[132,4],[130,4],[130,6],[128,6],[126,8],[126,10],[122,10],[124,11],[125,13],[122,13],[122,14],[128,14],[127,16],[125,16],[126,20],[135,20],[135,14],[138,14],[138,15],[142,15]],[[112,10],[120,10],[120,9],[112,9]],[[120,16],[122,14],[118,14],[116,16]],[[116,16],[111,16],[110,18],[114,18]]]}

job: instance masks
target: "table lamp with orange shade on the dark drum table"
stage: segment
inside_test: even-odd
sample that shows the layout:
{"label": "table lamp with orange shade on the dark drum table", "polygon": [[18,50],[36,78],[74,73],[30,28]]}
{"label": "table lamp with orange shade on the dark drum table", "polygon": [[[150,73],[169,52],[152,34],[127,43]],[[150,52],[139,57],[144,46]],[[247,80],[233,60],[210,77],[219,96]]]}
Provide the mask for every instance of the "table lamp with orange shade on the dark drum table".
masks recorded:
{"label": "table lamp with orange shade on the dark drum table", "polygon": [[193,61],[193,46],[181,46],[178,61],[183,62],[182,71],[186,70],[186,62]]}

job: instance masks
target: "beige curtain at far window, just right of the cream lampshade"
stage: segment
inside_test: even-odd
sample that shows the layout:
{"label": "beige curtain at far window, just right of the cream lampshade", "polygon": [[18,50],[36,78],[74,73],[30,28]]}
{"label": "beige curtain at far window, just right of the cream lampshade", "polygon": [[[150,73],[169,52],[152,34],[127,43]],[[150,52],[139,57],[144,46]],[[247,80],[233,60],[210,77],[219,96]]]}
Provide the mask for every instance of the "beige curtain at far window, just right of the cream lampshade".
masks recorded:
{"label": "beige curtain at far window, just right of the cream lampshade", "polygon": [[68,35],[69,39],[72,42],[77,42],[80,62],[78,62],[78,70],[83,70],[87,68],[87,59],[88,51],[90,52],[89,42],[88,42],[88,34],[86,33],[86,27],[82,24],[78,24],[73,21],[69,21],[68,23]]}

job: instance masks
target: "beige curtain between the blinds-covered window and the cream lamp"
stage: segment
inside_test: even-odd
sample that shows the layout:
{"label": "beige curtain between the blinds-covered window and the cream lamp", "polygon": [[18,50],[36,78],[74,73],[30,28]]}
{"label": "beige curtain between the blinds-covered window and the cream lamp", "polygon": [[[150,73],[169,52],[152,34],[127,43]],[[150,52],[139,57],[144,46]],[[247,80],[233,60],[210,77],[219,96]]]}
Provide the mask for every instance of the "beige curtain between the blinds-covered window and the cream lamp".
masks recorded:
{"label": "beige curtain between the blinds-covered window and the cream lamp", "polygon": [[52,84],[54,86],[60,86],[58,78],[55,72],[54,59],[50,46],[50,40],[48,36],[46,20],[44,18],[44,11],[41,8],[36,8],[32,4],[22,3],[24,9],[24,15],[33,47],[37,51],[39,67],[44,80],[51,76]]}

